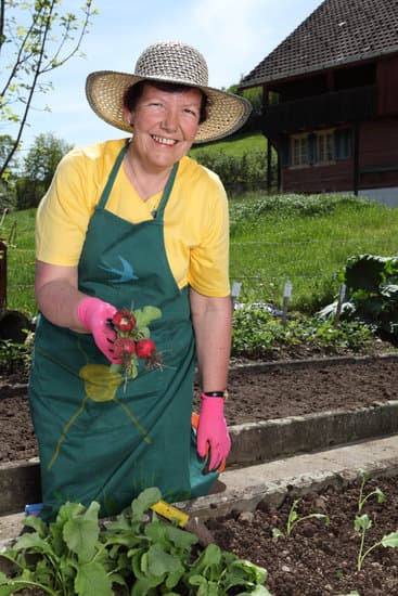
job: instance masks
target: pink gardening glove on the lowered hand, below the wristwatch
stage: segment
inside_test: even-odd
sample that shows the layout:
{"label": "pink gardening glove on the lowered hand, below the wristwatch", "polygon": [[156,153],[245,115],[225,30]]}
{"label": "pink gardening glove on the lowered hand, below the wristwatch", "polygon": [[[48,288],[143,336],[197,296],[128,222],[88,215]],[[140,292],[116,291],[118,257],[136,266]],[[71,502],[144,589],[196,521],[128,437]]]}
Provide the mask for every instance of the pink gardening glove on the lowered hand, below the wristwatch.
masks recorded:
{"label": "pink gardening glove on the lowered hand, below the wristwatch", "polygon": [[217,469],[231,449],[231,439],[223,417],[223,398],[209,398],[201,394],[202,405],[196,430],[196,451],[200,457],[206,456],[209,448],[209,470]]}

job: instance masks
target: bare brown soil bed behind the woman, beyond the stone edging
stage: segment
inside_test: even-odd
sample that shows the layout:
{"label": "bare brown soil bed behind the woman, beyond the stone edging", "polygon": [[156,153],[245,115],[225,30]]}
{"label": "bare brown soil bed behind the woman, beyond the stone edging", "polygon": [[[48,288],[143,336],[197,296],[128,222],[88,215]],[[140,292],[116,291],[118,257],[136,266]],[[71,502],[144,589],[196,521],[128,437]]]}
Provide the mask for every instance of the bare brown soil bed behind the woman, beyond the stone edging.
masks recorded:
{"label": "bare brown soil bed behind the woman, beyond the stone edging", "polygon": [[[37,443],[21,378],[0,376],[0,462],[37,456]],[[229,426],[338,409],[358,409],[398,399],[398,362],[373,359],[349,364],[286,367],[267,371],[232,366]],[[196,410],[198,398],[195,399]]]}

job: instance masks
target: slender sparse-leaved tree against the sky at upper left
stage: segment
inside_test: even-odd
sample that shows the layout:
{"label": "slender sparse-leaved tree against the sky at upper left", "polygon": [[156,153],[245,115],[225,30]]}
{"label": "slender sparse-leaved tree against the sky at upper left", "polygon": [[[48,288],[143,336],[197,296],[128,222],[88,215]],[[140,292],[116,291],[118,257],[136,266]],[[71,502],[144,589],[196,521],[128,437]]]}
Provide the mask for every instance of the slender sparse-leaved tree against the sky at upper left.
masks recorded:
{"label": "slender sparse-leaved tree against the sky at upper left", "polygon": [[1,156],[0,179],[18,148],[33,98],[51,83],[42,76],[79,53],[93,0],[84,0],[80,16],[62,11],[62,0],[0,0],[0,121],[16,127],[12,146]]}

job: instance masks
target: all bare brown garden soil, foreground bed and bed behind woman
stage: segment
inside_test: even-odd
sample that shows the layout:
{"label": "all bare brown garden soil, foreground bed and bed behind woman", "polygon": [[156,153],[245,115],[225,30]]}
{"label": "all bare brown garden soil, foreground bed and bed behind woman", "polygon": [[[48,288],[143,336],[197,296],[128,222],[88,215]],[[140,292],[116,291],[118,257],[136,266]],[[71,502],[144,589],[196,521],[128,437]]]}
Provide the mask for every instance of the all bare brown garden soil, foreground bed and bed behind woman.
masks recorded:
{"label": "all bare brown garden soil, foreground bed and bed behind woman", "polygon": [[[308,354],[299,354],[304,357]],[[317,357],[322,354],[316,354]],[[323,354],[324,355],[324,354]],[[325,359],[316,365],[284,361],[258,364],[234,362],[229,381],[226,417],[229,425],[305,415],[339,409],[358,409],[398,399],[398,362],[387,359],[352,360],[349,363]],[[195,398],[197,405],[198,398]],[[26,385],[23,376],[0,375],[0,462],[37,456]],[[367,513],[372,528],[365,534],[365,548],[398,530],[398,478],[368,479],[365,493],[378,488],[386,496],[378,503],[370,496]],[[299,518],[310,517],[286,532],[287,516],[295,498],[294,488],[278,510],[258,508],[207,522],[215,540],[226,550],[265,567],[267,586],[274,596],[398,596],[398,548],[377,546],[358,570],[360,534],[354,520],[358,515],[359,483],[329,488],[301,496]],[[282,535],[272,537],[278,528]]]}

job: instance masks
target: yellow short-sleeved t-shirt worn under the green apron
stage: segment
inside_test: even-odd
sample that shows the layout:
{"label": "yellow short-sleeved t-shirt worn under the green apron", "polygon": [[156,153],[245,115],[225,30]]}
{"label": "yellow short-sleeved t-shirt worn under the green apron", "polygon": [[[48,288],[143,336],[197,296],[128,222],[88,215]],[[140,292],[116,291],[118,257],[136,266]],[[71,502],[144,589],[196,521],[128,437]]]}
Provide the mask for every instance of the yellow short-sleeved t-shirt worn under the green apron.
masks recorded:
{"label": "yellow short-sleeved t-shirt worn under the green apron", "polygon": [[[36,257],[77,265],[89,220],[126,140],[78,147],[60,163],[37,210]],[[119,168],[106,209],[139,223],[152,219],[162,193],[142,200]],[[190,157],[180,161],[164,213],[166,255],[179,288],[228,296],[229,220],[224,189],[214,172]]]}

